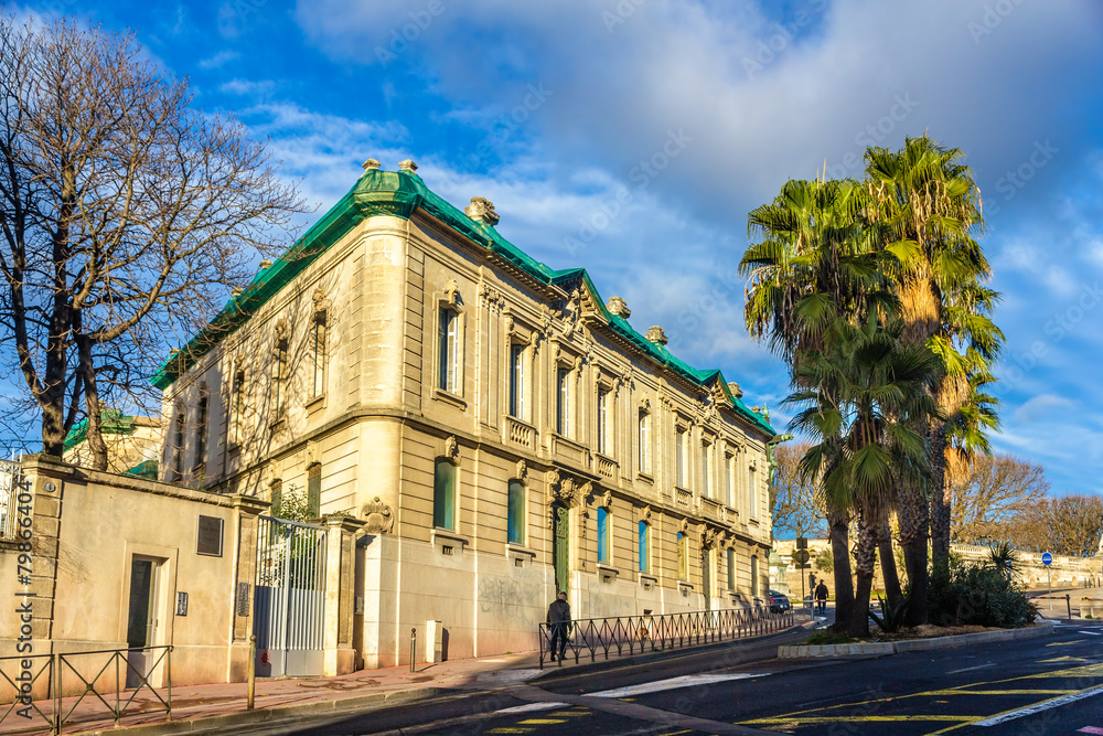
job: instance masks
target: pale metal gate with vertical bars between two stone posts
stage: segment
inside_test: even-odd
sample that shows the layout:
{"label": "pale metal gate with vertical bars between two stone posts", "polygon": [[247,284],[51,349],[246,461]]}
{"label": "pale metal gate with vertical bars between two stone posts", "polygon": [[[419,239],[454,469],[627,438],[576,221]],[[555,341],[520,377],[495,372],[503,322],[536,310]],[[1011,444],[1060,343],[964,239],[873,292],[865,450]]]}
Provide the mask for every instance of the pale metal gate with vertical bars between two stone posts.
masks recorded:
{"label": "pale metal gate with vertical bars between two stone posts", "polygon": [[260,516],[253,632],[259,676],[322,674],[325,530]]}

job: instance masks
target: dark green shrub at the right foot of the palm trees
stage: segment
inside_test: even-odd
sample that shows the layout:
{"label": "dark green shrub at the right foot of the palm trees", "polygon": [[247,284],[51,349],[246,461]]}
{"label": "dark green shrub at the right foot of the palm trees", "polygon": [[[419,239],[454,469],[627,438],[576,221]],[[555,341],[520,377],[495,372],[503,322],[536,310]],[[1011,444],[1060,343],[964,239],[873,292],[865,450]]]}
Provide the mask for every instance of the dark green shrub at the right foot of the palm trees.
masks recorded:
{"label": "dark green shrub at the right foot of the palm trees", "polygon": [[935,626],[1010,629],[1034,622],[1038,611],[1004,569],[951,561],[931,572],[930,621]]}

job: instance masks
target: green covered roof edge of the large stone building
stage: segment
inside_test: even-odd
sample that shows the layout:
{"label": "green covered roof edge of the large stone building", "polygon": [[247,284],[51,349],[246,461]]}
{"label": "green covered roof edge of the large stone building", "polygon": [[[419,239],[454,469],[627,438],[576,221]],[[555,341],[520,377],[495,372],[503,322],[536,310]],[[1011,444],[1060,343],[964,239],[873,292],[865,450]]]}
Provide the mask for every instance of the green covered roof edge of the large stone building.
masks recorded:
{"label": "green covered roof edge of the large stone building", "polygon": [[240,295],[232,298],[199,334],[192,338],[183,349],[170,355],[153,376],[152,384],[162,390],[172,385],[172,382],[181,373],[224,338],[245,324],[268,299],[290,284],[318,256],[363,220],[373,215],[393,215],[408,220],[417,210],[431,215],[542,284],[563,287],[581,281],[593,295],[610,330],[631,343],[641,353],[693,384],[705,386],[714,381],[717,382],[739,415],[761,431],[770,436],[775,434],[763,415],[752,412],[728,391],[727,383],[719,371],[699,371],[687,365],[673,355],[665,345],[651,342],[636,332],[628,323],[628,320],[612,314],[604,307],[603,300],[586,269],[556,270],[542,264],[502,237],[491,225],[468,217],[462,210],[447,202],[426,186],[420,177],[409,171],[365,171],[356,184],[302,237],[296,241],[295,245],[280,256],[279,260],[260,270],[253,282]]}

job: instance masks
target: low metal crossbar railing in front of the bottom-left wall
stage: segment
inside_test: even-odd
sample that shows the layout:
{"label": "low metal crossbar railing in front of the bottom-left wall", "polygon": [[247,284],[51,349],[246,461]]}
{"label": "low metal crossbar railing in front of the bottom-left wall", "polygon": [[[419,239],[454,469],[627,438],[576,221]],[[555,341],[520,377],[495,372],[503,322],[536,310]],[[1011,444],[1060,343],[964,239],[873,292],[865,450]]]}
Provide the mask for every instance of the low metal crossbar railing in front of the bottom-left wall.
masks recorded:
{"label": "low metal crossbar railing in front of the bottom-left wall", "polygon": [[[0,657],[0,685],[7,682],[13,690],[14,695],[12,702],[7,703],[7,693],[0,691],[0,723],[3,723],[9,717],[24,718],[26,715],[30,716],[30,721],[25,721],[25,725],[33,727],[33,721],[41,718],[44,723],[44,727],[49,728],[51,734],[61,734],[62,728],[65,723],[73,716],[76,712],[77,706],[81,705],[88,698],[90,701],[99,701],[107,708],[107,712],[111,714],[115,719],[115,726],[118,727],[120,721],[126,715],[138,715],[138,714],[149,714],[149,713],[161,713],[165,714],[165,719],[172,719],[172,647],[146,647],[142,652],[149,654],[148,672],[142,673],[133,664],[130,663],[128,654],[133,651],[129,649],[103,649],[94,650],[87,652],[68,652],[65,654],[32,654],[30,657]],[[87,662],[83,662],[81,668],[76,663],[77,658],[87,657],[99,657],[106,655],[106,660],[103,665],[98,665],[98,662],[93,663],[90,666]],[[150,675],[164,663],[164,681],[165,681],[165,693],[164,697],[161,696],[153,685],[150,684]],[[19,674],[10,675],[11,664],[14,664],[15,670]],[[24,668],[23,665],[30,663],[31,666]],[[110,684],[105,687],[103,684],[97,689],[97,682],[105,679],[108,683],[111,681],[110,668],[115,668],[114,686]],[[97,669],[98,668],[98,669]],[[95,671],[92,678],[86,678],[82,670],[87,673]],[[131,682],[135,682],[132,686],[127,685],[127,681],[130,680],[130,675],[133,675]],[[72,678],[76,678],[76,682]],[[35,687],[40,680],[45,678],[45,685]],[[77,690],[79,694],[71,697],[65,697],[66,681]],[[142,690],[147,690],[153,695],[153,703],[159,703],[157,707],[143,707],[140,710],[131,710],[131,704],[135,698]],[[47,693],[44,697],[34,697],[35,691]],[[103,691],[103,692],[101,692]],[[23,698],[21,700],[21,695]],[[89,697],[92,696],[92,697]],[[114,700],[114,705],[110,700]],[[23,715],[26,714],[26,715]],[[38,716],[38,718],[35,718]],[[85,722],[93,719],[92,717],[82,717],[79,721]]]}

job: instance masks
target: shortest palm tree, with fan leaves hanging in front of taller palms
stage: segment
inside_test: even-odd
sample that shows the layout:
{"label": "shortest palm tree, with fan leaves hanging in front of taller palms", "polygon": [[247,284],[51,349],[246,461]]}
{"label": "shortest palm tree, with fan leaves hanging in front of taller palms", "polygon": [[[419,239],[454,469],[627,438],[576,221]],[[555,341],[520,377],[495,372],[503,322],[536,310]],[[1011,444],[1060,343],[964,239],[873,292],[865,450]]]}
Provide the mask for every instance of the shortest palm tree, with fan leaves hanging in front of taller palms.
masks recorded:
{"label": "shortest palm tree, with fan leaves hanging in front of taller palms", "polygon": [[919,486],[929,474],[927,446],[914,427],[934,412],[928,391],[938,361],[924,345],[903,343],[902,329],[882,308],[858,324],[835,320],[824,331],[823,349],[797,362],[799,388],[786,399],[806,406],[792,427],[816,442],[802,469],[823,478],[831,506],[853,510],[858,519],[857,587],[847,627],[856,637],[869,632],[878,524],[891,502],[893,477]]}

